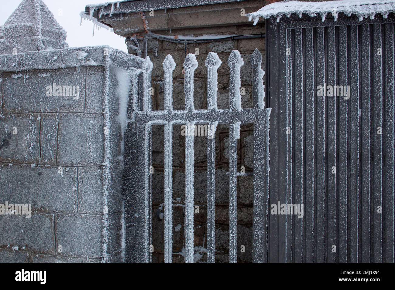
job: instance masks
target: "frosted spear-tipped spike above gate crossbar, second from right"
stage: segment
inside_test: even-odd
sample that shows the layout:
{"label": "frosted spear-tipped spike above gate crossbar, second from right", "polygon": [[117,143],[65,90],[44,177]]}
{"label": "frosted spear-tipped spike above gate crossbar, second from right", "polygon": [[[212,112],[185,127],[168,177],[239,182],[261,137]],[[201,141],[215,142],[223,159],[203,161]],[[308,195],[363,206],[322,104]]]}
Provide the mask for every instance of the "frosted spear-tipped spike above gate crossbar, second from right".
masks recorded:
{"label": "frosted spear-tipped spike above gate crossbar, second from right", "polygon": [[232,51],[228,58],[230,109],[241,111],[240,68],[244,64],[239,51]]}

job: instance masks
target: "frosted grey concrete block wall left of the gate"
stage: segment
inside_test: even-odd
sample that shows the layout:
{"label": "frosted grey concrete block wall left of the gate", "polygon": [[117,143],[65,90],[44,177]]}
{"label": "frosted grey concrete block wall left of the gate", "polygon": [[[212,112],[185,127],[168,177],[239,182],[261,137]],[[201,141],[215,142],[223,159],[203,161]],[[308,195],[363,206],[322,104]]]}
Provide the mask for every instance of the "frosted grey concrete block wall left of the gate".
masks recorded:
{"label": "frosted grey concrete block wall left of the gate", "polygon": [[141,63],[109,47],[0,56],[0,204],[32,204],[0,215],[0,262],[122,261],[120,116]]}

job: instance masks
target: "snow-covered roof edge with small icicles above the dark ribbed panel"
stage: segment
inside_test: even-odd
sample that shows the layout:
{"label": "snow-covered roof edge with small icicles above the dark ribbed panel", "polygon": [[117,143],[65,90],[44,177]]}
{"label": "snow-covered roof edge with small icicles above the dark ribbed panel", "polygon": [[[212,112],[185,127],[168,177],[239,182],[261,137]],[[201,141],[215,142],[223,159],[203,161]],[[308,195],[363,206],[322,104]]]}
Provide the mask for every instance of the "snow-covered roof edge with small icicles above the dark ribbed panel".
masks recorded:
{"label": "snow-covered roof edge with small icicles above the dark ribbed panel", "polygon": [[254,20],[254,25],[258,22],[259,17],[268,19],[270,17],[277,17],[277,22],[280,21],[283,15],[289,17],[291,14],[296,13],[299,17],[302,14],[309,16],[321,15],[322,21],[325,21],[327,13],[331,13],[337,20],[339,12],[351,16],[357,15],[359,20],[374,16],[378,13],[387,18],[388,13],[395,12],[395,0],[341,0],[341,1],[328,1],[328,2],[303,2],[303,1],[288,1],[276,2],[262,7],[256,12],[248,13],[248,19]]}

